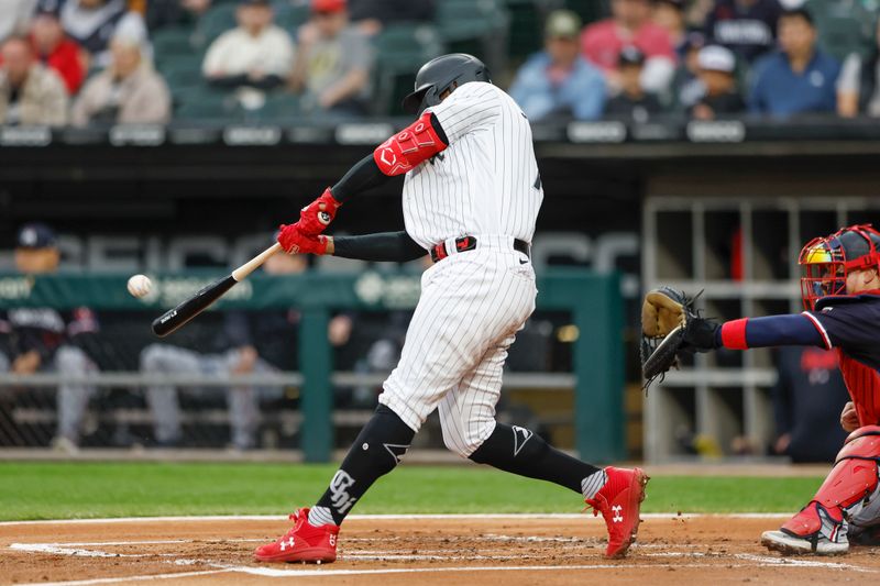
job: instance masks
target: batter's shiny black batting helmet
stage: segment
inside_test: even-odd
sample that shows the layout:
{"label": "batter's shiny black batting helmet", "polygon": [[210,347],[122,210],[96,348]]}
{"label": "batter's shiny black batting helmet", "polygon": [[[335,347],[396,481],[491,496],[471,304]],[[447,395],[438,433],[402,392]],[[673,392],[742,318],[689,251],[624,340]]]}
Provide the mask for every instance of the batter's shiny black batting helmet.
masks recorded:
{"label": "batter's shiny black batting helmet", "polygon": [[440,103],[440,96],[469,81],[492,82],[483,62],[466,53],[450,53],[435,57],[416,74],[416,90],[404,98],[404,110],[421,114],[429,106]]}

